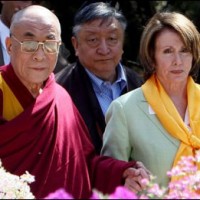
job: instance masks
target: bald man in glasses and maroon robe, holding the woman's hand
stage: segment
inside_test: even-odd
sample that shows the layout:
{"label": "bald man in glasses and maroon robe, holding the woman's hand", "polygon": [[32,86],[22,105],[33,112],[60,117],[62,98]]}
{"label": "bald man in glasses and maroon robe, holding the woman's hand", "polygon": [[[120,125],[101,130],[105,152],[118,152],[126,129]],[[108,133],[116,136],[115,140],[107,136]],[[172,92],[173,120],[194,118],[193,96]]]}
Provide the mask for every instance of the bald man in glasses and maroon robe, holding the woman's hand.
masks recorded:
{"label": "bald man in glasses and maroon robe, holding the woman's hand", "polygon": [[61,44],[55,14],[29,6],[13,16],[10,31],[11,64],[0,69],[0,159],[6,170],[34,175],[36,198],[59,188],[89,198],[93,188],[110,193],[123,183],[139,190],[148,171],[141,163],[95,155],[83,119],[55,82]]}

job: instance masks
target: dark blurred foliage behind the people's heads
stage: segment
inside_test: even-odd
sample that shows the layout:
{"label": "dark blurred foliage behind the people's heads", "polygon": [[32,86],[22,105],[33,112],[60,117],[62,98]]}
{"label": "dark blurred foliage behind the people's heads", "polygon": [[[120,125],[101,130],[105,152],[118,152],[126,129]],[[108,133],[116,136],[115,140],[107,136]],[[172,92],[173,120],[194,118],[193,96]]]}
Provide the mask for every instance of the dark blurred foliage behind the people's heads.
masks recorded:
{"label": "dark blurred foliage behind the people's heads", "polygon": [[[97,2],[99,0],[47,0],[42,1],[42,5],[53,10],[58,16],[62,27],[62,40],[71,52],[68,60],[74,62],[76,57],[71,44],[71,34],[73,18],[76,11],[86,4]],[[178,11],[189,17],[197,29],[200,30],[200,2],[199,1],[146,1],[146,0],[102,0],[109,2],[112,6],[117,7],[128,20],[126,30],[124,54],[122,61],[127,66],[141,72],[142,67],[139,65],[138,49],[140,36],[143,28],[150,17],[157,11]]]}

